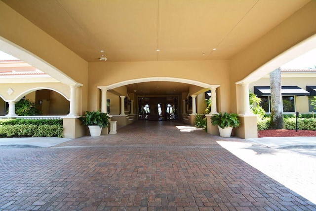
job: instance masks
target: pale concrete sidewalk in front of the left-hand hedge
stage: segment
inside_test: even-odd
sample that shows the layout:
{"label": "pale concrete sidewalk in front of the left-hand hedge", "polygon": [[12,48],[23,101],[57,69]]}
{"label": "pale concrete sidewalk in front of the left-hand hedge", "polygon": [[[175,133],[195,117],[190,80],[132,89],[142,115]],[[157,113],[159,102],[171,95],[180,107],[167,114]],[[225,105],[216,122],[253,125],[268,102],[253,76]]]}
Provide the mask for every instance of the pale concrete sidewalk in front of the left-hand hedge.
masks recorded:
{"label": "pale concrete sidewalk in front of the left-hand hedge", "polygon": [[48,148],[70,140],[72,139],[57,137],[1,138],[0,148]]}

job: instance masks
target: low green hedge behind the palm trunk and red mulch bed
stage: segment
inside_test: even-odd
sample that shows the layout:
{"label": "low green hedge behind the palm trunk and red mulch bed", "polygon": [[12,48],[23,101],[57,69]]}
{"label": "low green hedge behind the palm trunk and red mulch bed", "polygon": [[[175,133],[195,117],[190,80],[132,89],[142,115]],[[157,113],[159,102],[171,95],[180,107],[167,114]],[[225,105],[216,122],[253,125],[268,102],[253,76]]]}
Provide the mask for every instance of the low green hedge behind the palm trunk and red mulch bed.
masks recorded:
{"label": "low green hedge behind the palm trunk and red mulch bed", "polygon": [[[257,120],[258,131],[267,130],[270,126],[270,118],[262,118]],[[288,130],[296,129],[296,118],[284,118],[284,128]],[[298,130],[316,131],[316,118],[297,119]]]}

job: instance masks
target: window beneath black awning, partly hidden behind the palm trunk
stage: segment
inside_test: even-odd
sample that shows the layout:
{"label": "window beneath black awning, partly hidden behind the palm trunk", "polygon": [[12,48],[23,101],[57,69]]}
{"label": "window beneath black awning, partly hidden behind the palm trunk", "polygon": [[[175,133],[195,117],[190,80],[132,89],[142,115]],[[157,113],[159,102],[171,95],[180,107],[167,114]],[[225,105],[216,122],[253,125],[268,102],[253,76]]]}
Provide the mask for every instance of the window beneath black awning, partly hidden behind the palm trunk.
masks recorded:
{"label": "window beneath black awning, partly hidden behind the palm trunk", "polygon": [[[271,97],[260,96],[262,102],[260,106],[266,111],[271,113]],[[295,97],[294,96],[282,96],[283,112],[295,112]]]}

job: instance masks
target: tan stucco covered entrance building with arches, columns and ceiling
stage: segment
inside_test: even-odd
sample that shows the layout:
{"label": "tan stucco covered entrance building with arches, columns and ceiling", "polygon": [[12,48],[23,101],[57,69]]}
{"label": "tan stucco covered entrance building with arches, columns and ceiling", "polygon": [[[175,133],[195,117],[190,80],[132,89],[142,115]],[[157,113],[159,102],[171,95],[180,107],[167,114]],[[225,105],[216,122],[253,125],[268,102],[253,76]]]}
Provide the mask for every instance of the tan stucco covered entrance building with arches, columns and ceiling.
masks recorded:
{"label": "tan stucco covered entrance building with arches, columns and ceiling", "polygon": [[[8,116],[14,116],[15,103],[24,96],[42,89],[58,92],[69,101],[64,127],[70,138],[85,134],[78,121],[85,110],[109,108],[111,120],[122,125],[138,119],[141,97],[155,96],[150,106],[164,110],[170,104],[178,118],[190,122],[204,110],[206,91],[212,93],[208,119],[235,112],[241,120],[236,136],[257,137],[249,84],[316,48],[314,0],[49,2],[0,1],[0,50],[55,80],[1,81],[0,97],[8,103]],[[163,94],[153,89],[155,83],[165,88]],[[142,92],[142,84],[151,92]],[[167,88],[171,84],[179,89]],[[208,133],[218,134],[208,127]]]}

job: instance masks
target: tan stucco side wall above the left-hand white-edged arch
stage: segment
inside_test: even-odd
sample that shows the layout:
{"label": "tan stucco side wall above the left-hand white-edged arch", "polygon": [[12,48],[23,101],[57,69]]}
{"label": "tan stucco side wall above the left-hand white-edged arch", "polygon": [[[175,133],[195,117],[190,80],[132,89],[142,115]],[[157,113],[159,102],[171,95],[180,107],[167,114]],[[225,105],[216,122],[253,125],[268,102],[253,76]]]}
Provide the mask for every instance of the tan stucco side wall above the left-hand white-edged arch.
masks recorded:
{"label": "tan stucco side wall above the left-hand white-edged arch", "polygon": [[[0,25],[0,36],[12,42],[14,46],[21,48],[21,52],[23,52],[9,52],[12,56],[22,59],[19,56],[28,54],[25,58],[29,60],[22,60],[30,65],[39,68],[39,66],[42,67],[40,65],[41,61],[45,64],[48,63],[49,65],[46,67],[54,67],[53,71],[50,68],[47,68],[47,70],[39,69],[56,79],[70,82],[74,80],[83,84],[82,99],[84,100],[82,101],[82,109],[85,110],[87,108],[87,102],[85,100],[87,98],[86,61],[56,39],[43,32],[2,1],[0,1]],[[7,50],[5,52],[7,52]],[[31,57],[35,56],[36,60],[30,59],[30,55]],[[67,78],[70,79],[68,80]],[[65,94],[69,95],[69,93]]]}

